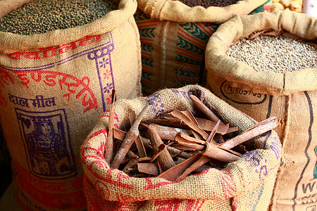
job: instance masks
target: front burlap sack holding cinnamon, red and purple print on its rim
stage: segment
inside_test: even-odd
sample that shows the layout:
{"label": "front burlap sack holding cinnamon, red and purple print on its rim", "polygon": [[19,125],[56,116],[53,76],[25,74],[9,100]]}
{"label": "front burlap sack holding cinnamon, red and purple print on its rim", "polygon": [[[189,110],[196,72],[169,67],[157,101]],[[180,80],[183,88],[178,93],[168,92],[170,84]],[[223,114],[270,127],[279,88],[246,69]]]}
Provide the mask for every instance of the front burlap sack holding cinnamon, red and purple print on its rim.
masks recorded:
{"label": "front burlap sack holding cinnamon, red and purple print on its rim", "polygon": [[[190,94],[217,112],[225,123],[239,127],[240,132],[256,123],[209,90],[187,85],[117,101],[115,125],[119,129],[128,126],[130,111],[138,115],[147,104],[150,108],[144,120],[175,108],[194,112]],[[209,169],[171,182],[157,177],[129,177],[109,168],[104,159],[107,127],[108,113],[104,113],[80,151],[89,210],[267,210],[280,164],[280,140],[274,131],[254,139],[256,150],[223,170]]]}

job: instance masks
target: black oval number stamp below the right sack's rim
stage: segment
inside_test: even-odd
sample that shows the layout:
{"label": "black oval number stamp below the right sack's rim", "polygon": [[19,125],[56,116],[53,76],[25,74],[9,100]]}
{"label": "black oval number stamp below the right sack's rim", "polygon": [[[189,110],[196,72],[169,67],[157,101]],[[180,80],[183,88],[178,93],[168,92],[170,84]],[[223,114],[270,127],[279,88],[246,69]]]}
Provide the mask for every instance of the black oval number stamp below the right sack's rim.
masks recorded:
{"label": "black oval number stamp below the right sack's rim", "polygon": [[266,101],[267,95],[254,93],[239,87],[234,87],[225,80],[220,86],[220,92],[225,98],[237,104],[256,105]]}

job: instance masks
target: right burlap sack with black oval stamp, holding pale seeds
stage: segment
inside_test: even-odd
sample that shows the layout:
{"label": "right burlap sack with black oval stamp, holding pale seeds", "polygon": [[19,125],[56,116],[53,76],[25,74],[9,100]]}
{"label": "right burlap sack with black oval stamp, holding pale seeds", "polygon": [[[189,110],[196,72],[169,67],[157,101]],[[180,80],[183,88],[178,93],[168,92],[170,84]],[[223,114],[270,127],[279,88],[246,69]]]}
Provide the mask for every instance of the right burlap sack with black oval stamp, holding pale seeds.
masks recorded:
{"label": "right burlap sack with black oval stamp, holding pale seeds", "polygon": [[256,72],[251,66],[225,55],[232,41],[268,29],[316,41],[317,18],[287,11],[232,18],[218,28],[206,47],[208,86],[216,96],[257,121],[278,117],[280,125],[275,131],[282,142],[282,164],[271,209],[314,210],[317,206],[314,120],[317,58],[316,68],[277,73]]}

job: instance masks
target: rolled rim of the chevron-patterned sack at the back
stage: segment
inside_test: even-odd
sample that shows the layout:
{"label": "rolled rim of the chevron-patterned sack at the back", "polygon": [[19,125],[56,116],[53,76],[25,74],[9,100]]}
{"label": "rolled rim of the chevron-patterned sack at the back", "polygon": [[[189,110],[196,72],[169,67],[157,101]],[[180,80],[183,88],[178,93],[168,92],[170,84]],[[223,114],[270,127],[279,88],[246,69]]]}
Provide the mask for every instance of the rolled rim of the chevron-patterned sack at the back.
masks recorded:
{"label": "rolled rim of the chevron-patterned sack at the back", "polygon": [[203,6],[190,7],[180,1],[169,0],[137,0],[138,8],[159,20],[175,22],[209,22],[215,24],[225,23],[234,15],[247,15],[268,0],[241,0],[237,4],[225,7]]}

